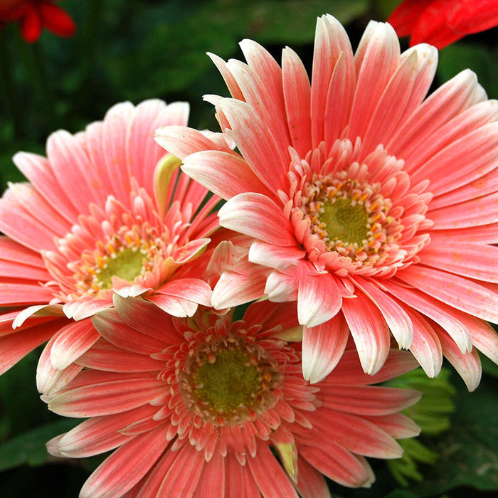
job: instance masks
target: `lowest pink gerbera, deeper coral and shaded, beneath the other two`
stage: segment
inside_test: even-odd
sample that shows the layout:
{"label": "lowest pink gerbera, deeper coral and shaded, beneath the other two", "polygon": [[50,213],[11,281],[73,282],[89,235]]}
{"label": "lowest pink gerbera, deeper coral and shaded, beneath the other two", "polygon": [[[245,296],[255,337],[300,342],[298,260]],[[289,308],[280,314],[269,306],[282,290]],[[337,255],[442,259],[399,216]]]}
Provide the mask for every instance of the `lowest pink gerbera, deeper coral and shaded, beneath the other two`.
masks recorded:
{"label": "lowest pink gerbera, deeper coral and shaded, beneath the other two", "polygon": [[115,296],[93,321],[102,339],[78,359],[87,370],[43,396],[55,413],[88,417],[48,443],[53,455],[117,448],[80,498],[328,496],[323,475],[369,486],[364,456],[400,457],[395,438],[419,432],[399,413],[418,391],[369,386],[413,369],[413,356],[393,350],[372,377],[347,349],[312,386],[300,348],[280,339],[297,324],[293,305],[253,304],[232,322]]}

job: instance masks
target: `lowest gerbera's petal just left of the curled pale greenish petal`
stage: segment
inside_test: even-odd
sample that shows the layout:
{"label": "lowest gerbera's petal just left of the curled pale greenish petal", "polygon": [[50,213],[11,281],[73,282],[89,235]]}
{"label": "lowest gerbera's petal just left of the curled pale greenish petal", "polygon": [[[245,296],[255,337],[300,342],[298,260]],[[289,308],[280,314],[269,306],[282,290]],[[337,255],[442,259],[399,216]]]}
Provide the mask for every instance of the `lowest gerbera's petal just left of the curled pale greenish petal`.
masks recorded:
{"label": "lowest gerbera's petal just left of the curled pale greenish petal", "polygon": [[[297,498],[297,492],[277,459],[265,444],[258,445],[258,453],[247,463],[253,479],[265,498]],[[268,479],[271,475],[272,478]]]}

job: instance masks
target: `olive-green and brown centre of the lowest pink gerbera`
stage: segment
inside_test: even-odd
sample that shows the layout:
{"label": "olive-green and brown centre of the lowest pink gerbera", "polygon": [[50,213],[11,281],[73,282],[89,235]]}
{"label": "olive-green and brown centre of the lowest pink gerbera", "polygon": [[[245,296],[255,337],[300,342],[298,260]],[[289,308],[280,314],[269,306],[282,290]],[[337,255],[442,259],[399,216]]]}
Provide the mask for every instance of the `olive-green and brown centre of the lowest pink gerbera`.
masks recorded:
{"label": "olive-green and brown centre of the lowest pink gerbera", "polygon": [[277,401],[281,374],[266,351],[243,336],[228,334],[189,351],[180,374],[187,406],[216,425],[243,423]]}

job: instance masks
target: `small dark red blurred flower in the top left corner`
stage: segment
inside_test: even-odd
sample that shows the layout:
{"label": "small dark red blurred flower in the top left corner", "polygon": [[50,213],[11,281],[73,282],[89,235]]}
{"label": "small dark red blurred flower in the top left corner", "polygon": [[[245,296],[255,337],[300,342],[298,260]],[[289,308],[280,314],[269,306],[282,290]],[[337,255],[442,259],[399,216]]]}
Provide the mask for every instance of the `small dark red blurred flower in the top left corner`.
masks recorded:
{"label": "small dark red blurred flower in the top left corner", "polygon": [[40,38],[42,28],[47,28],[58,36],[73,36],[76,31],[75,22],[53,2],[54,0],[2,0],[0,28],[5,23],[19,21],[21,34],[29,43]]}

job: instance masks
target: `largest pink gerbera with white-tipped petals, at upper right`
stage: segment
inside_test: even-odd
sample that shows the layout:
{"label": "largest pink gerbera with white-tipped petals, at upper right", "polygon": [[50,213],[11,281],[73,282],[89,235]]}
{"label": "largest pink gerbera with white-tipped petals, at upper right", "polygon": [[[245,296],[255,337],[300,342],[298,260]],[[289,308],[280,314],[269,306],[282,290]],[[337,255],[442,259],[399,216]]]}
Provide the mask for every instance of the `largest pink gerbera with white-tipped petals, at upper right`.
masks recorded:
{"label": "largest pink gerbera with white-tipped petals, at upper right", "polygon": [[[498,105],[466,70],[424,100],[437,51],[400,53],[371,22],[356,54],[332,16],[317,22],[311,83],[290,48],[282,67],[253,41],[248,63],[211,55],[233,98],[208,96],[240,154],[193,129],[157,140],[183,169],[228,199],[226,228],[255,238],[265,294],[297,301],[304,378],[341,357],[349,331],[364,371],[391,344],[429,376],[443,354],[473,389],[476,346],[498,361]],[[233,280],[213,305],[238,303]]]}

